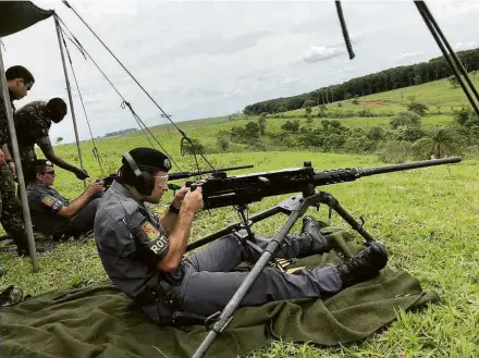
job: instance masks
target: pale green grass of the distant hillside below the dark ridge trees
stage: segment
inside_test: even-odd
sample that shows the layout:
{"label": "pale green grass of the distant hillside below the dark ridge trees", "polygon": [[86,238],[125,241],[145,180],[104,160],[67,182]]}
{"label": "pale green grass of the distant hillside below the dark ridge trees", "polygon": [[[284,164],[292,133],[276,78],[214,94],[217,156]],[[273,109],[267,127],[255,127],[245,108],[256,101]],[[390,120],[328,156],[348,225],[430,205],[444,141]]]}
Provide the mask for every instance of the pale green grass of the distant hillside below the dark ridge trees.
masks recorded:
{"label": "pale green grass of the distant hillside below the dark ridge trees", "polygon": [[[472,79],[472,78],[471,78]],[[479,76],[475,82],[479,85]],[[390,127],[391,115],[407,110],[407,103],[412,100],[416,100],[429,106],[427,115],[422,119],[422,127],[425,129],[438,125],[447,125],[453,123],[452,108],[458,109],[463,106],[468,106],[467,98],[460,88],[452,88],[446,79],[435,81],[423,85],[412,86],[402,89],[390,90],[382,94],[364,96],[359,98],[359,104],[353,104],[351,100],[343,100],[340,102],[333,102],[327,104],[328,113],[332,114],[328,120],[337,120],[343,125],[351,128],[364,128],[366,131],[373,126]],[[382,101],[382,106],[378,106],[371,102]],[[342,107],[339,107],[341,103]],[[441,108],[438,108],[441,106]],[[357,112],[360,110],[368,110],[371,112],[371,116],[364,118],[357,116]],[[312,108],[314,121],[311,126],[319,127],[321,119],[316,115],[319,113],[318,107]],[[341,118],[344,113],[354,113],[356,116]],[[305,110],[298,109],[288,111],[282,114],[284,118],[277,118],[269,114],[267,119],[267,132],[278,133],[281,131],[281,126],[286,121],[299,121],[300,125],[306,124]],[[207,148],[217,148],[217,134],[220,131],[230,131],[233,126],[244,126],[249,121],[257,122],[258,115],[245,116],[234,115],[218,116],[200,119],[196,121],[179,122],[177,125],[184,129],[192,138],[198,138],[202,145]],[[169,125],[158,125],[150,131],[161,138],[162,145],[168,149],[173,150],[173,153],[180,153],[180,136],[175,128]],[[123,144],[140,144],[148,145],[145,141],[145,137],[142,132],[131,134],[121,138],[108,138],[97,139],[100,143],[100,152],[111,152],[112,147],[122,148]],[[106,143],[106,145],[102,145]],[[87,150],[90,150],[90,146],[86,145]],[[67,149],[73,153],[72,147]]]}

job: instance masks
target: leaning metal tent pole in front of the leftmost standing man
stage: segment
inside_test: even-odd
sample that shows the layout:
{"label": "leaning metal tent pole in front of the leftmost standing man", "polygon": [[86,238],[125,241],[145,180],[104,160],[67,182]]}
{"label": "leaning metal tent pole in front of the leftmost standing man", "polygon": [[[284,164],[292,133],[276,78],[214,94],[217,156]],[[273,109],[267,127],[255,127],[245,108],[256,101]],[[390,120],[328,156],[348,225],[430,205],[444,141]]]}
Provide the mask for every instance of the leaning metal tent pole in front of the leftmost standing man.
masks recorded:
{"label": "leaning metal tent pole in front of the leftmost standing man", "polygon": [[0,79],[1,79],[0,87],[3,96],[3,103],[5,104],[7,119],[9,121],[10,137],[12,139],[13,159],[15,160],[16,176],[19,178],[19,186],[21,194],[20,200],[22,202],[23,219],[25,223],[26,236],[28,238],[28,251],[29,251],[34,272],[38,272],[38,256],[35,247],[34,231],[32,229],[32,218],[29,214],[28,200],[26,198],[25,177],[23,176],[22,161],[20,160],[19,141],[16,139],[15,124],[13,122],[13,110],[12,107],[10,106],[9,85],[7,83],[5,69],[3,66],[1,46],[0,46]]}

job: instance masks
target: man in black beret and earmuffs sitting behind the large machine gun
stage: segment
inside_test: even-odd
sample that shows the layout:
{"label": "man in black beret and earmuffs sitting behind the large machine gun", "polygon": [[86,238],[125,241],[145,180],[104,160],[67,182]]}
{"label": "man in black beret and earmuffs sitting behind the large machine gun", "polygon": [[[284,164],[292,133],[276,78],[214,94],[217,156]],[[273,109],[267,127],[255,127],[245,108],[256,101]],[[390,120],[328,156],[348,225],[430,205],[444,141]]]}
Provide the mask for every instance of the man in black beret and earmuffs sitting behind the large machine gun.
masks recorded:
{"label": "man in black beret and earmuffs sitting behind the large machine gun", "polygon": [[[245,280],[233,272],[258,254],[226,235],[204,250],[184,258],[193,219],[202,207],[201,189],[177,190],[165,213],[157,220],[145,202],[158,203],[168,190],[168,158],[150,148],[123,155],[119,178],[105,193],[95,219],[95,242],[112,282],[133,298],[150,319],[172,323],[183,317],[209,317],[221,311]],[[319,223],[306,217],[300,235],[287,236],[288,247],[278,258],[329,251],[332,243],[319,234]],[[266,248],[267,242],[258,242]],[[299,270],[294,274],[266,268],[241,306],[271,300],[320,297],[371,279],[385,267],[388,254],[376,243],[336,266]]]}

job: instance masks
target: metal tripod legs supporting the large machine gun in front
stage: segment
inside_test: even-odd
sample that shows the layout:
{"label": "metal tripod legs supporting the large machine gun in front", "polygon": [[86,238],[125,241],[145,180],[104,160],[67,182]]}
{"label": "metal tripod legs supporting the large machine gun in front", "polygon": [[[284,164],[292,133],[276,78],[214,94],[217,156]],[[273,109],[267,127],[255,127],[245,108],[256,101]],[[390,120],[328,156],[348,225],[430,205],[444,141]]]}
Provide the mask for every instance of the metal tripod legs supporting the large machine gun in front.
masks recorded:
{"label": "metal tripod legs supporting the large machine gun in front", "polygon": [[[256,281],[259,274],[261,274],[265,267],[273,258],[273,254],[277,251],[279,247],[281,247],[285,236],[293,227],[293,225],[296,223],[296,221],[305,214],[306,210],[309,207],[319,208],[320,203],[326,203],[330,207],[330,214],[331,214],[331,210],[336,211],[337,214],[344,219],[344,221],[346,221],[355,231],[357,231],[365,238],[366,245],[369,242],[374,240],[373,237],[364,229],[363,219],[360,223],[355,221],[354,218],[343,207],[341,207],[340,202],[331,194],[324,192],[314,192],[312,195],[306,197],[303,195],[294,196],[287,200],[280,202],[278,206],[271,209],[268,209],[263,212],[260,212],[249,218],[248,220],[246,220],[246,217],[242,215],[242,219],[244,219],[243,222],[230,225],[221,231],[205,236],[187,246],[186,250],[188,251],[198,248],[205,244],[211,243],[214,239],[220,238],[224,235],[237,232],[242,229],[245,229],[248,233],[247,236],[249,236],[249,234],[253,235],[253,233],[249,230],[249,226],[253,225],[254,223],[257,223],[261,220],[270,218],[280,212],[288,215],[285,224],[271,238],[266,249],[261,250],[262,251],[261,256],[259,257],[258,261],[256,261],[255,266],[246,276],[245,281],[243,281],[238,289],[234,293],[233,297],[224,307],[223,311],[221,312],[221,314],[218,317],[214,324],[212,325],[211,331],[207,334],[206,338],[202,341],[198,349],[192,356],[193,358],[202,357],[207,353],[207,350],[213,344],[217,336],[221,334],[221,332],[223,332],[224,329],[229,325],[229,323],[233,319],[233,313],[242,303],[243,298],[251,287],[253,283]],[[246,242],[251,242],[251,240],[247,239]],[[251,244],[256,246],[253,242]]]}

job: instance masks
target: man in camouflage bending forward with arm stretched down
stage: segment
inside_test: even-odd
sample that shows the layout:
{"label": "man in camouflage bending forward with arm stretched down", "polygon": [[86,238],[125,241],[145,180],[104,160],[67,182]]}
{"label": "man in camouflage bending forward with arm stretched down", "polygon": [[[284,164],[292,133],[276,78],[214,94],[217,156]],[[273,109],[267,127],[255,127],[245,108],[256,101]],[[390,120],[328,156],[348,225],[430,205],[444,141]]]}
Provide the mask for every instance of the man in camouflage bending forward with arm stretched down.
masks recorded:
{"label": "man in camouflage bending forward with arm stretched down", "polygon": [[79,180],[85,180],[88,174],[74,165],[69,164],[58,157],[50,141],[49,131],[51,122],[60,123],[66,115],[66,103],[61,98],[52,98],[48,102],[30,102],[15,112],[15,128],[19,137],[20,156],[27,180],[35,175],[32,163],[37,159],[35,145],[40,147],[44,156],[53,164],[67,170]]}

